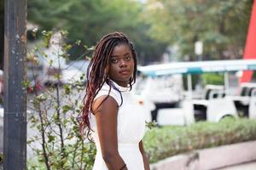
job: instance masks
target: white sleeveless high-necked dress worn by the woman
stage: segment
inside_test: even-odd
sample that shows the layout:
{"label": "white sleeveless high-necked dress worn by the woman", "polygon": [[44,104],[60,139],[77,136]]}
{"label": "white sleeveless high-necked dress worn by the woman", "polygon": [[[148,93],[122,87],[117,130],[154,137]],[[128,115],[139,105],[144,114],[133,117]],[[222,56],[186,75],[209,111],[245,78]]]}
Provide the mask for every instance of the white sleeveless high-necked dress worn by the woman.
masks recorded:
{"label": "white sleeveless high-necked dress worn by the woman", "polygon": [[[145,132],[145,116],[143,114],[143,107],[137,103],[137,99],[130,88],[120,87],[113,82],[114,86],[119,89],[122,94],[123,104],[119,106],[118,121],[117,121],[117,136],[118,136],[118,150],[119,155],[125,161],[126,167],[129,170],[144,170],[143,156],[139,150],[139,142],[143,139]],[[105,83],[102,89],[96,95],[108,95],[109,86]],[[111,88],[110,96],[121,104],[121,95],[119,92]],[[102,152],[96,128],[96,118],[90,114],[90,126],[93,130],[92,137],[96,143],[96,160],[94,162],[93,170],[108,170],[104,160],[102,159]]]}

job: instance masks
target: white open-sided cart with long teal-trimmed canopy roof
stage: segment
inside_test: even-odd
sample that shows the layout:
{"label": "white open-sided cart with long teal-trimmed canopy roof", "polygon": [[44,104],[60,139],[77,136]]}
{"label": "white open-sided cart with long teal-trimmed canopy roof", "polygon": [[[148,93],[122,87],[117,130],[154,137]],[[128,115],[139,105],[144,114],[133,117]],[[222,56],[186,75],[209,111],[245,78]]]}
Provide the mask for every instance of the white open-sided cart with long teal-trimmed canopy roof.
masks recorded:
{"label": "white open-sided cart with long teal-trimmed canopy roof", "polygon": [[[160,65],[139,66],[138,71],[148,77],[161,77],[168,75],[183,74],[187,76],[188,92],[183,101],[177,108],[160,109],[158,122],[165,122],[166,118],[172,117],[172,113],[177,114],[176,118],[182,121],[176,121],[181,125],[193,123],[196,121],[207,120],[218,122],[224,116],[237,116],[236,105],[233,97],[227,95],[229,88],[230,71],[256,70],[256,59],[234,59],[234,60],[214,60],[214,61],[195,61],[195,62],[177,62]],[[204,99],[193,99],[191,74],[203,74],[207,72],[224,72],[224,88],[209,88]],[[161,88],[158,89],[159,91]],[[154,94],[154,92],[152,93]],[[253,94],[253,93],[252,93]],[[247,103],[253,103],[255,98],[250,98]],[[244,102],[244,100],[243,100]],[[256,113],[255,104],[249,105],[250,113]],[[254,110],[253,110],[254,109]],[[250,115],[249,113],[249,115]],[[167,116],[168,115],[168,116]],[[175,120],[175,117],[173,117]]]}

